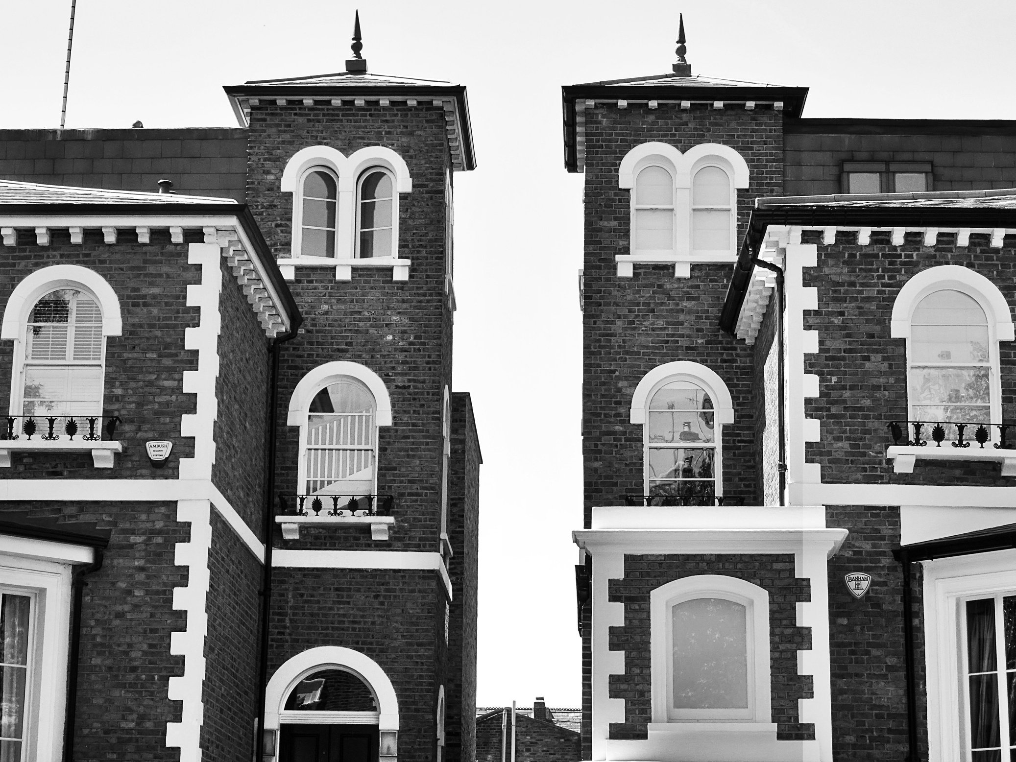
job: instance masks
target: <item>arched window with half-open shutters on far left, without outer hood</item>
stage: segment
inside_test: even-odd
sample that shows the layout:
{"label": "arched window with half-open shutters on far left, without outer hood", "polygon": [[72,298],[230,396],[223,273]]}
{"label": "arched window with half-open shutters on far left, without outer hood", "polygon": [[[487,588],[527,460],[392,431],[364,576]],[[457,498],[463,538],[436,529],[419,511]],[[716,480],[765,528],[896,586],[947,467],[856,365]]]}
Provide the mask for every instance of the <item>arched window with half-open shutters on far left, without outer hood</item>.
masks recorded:
{"label": "arched window with half-open shutters on far left, without outer hood", "polygon": [[19,415],[101,416],[105,348],[96,297],[81,289],[43,295],[25,324]]}

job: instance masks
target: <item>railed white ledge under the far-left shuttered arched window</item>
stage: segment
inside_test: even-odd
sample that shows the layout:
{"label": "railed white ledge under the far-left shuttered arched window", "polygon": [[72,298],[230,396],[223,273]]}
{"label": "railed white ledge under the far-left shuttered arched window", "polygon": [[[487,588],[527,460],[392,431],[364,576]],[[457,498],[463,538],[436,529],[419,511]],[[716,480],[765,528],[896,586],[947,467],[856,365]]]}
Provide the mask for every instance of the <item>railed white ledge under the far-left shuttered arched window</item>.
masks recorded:
{"label": "railed white ledge under the far-left shuttered arched window", "polygon": [[[119,416],[6,416],[0,418],[0,468],[12,452],[91,453],[97,468],[112,468],[123,445],[115,440]],[[105,434],[105,439],[103,438]]]}

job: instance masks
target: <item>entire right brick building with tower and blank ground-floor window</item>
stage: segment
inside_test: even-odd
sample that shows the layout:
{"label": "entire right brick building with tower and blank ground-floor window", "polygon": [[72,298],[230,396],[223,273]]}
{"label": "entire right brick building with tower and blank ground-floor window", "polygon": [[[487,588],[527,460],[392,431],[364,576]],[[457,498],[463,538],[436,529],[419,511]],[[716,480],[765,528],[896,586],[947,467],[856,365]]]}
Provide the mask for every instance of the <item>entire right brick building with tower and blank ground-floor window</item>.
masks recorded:
{"label": "entire right brick building with tower and blank ground-floor window", "polygon": [[582,758],[1009,760],[1016,123],[808,119],[680,42],[563,88]]}

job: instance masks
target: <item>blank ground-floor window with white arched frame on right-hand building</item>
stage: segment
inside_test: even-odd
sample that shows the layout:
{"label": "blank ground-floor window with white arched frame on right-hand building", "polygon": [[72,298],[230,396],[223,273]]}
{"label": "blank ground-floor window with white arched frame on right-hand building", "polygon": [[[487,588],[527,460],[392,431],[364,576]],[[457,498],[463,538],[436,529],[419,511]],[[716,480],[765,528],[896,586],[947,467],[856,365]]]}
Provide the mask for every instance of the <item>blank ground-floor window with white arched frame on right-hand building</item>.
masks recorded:
{"label": "blank ground-floor window with white arched frame on right-hand building", "polygon": [[653,721],[771,721],[768,592],[703,574],[649,597]]}

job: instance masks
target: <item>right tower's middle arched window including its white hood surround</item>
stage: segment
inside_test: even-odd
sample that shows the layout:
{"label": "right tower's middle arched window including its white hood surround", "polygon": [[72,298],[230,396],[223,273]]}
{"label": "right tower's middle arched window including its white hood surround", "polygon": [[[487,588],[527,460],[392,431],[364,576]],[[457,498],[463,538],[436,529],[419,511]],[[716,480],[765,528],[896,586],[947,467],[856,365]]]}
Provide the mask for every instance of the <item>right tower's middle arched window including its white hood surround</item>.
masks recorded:
{"label": "right tower's middle arched window including its white hood surround", "polygon": [[711,505],[723,494],[722,427],[734,408],[713,371],[688,361],[653,368],[632,395],[631,422],[642,424],[645,495]]}

